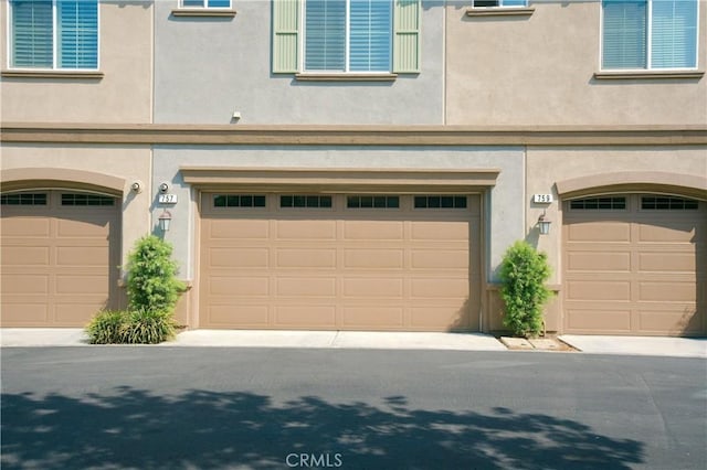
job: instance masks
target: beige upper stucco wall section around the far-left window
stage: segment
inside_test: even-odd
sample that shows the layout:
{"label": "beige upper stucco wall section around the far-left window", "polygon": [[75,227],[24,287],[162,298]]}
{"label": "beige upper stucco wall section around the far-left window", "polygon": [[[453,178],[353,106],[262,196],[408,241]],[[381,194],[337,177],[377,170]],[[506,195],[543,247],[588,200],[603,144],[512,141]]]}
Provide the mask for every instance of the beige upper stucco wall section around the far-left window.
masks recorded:
{"label": "beige upper stucco wall section around the far-left window", "polygon": [[[0,67],[8,70],[8,1],[0,4]],[[101,2],[103,78],[2,77],[3,121],[149,122],[152,103],[152,2]]]}

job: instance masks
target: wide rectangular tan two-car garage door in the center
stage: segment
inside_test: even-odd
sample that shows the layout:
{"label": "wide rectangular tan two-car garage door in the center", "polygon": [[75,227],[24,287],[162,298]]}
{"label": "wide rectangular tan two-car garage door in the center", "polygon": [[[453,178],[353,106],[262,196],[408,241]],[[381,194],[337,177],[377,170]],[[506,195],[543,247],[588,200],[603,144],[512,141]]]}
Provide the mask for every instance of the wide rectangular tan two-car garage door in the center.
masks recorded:
{"label": "wide rectangular tan two-car garage door in the center", "polygon": [[200,238],[200,328],[478,329],[478,195],[203,193]]}

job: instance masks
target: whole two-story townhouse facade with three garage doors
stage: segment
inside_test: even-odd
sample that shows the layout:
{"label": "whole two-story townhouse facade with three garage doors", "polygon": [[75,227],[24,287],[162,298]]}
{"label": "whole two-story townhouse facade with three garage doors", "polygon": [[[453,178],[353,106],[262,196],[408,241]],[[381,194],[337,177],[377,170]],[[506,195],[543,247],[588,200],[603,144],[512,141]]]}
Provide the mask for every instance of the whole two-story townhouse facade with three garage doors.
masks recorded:
{"label": "whole two-story townhouse facade with three garage doors", "polygon": [[701,1],[1,14],[3,327],[124,307],[155,233],[189,328],[499,331],[526,239],[548,331],[707,333]]}

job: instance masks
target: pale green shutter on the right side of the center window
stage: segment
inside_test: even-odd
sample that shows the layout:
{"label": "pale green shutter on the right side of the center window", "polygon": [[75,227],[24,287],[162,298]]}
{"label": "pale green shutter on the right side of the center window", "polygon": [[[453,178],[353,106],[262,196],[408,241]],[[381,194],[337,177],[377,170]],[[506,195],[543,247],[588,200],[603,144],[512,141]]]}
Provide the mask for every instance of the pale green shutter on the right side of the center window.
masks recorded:
{"label": "pale green shutter on the right side of the center window", "polygon": [[420,72],[422,0],[393,0],[393,72]]}

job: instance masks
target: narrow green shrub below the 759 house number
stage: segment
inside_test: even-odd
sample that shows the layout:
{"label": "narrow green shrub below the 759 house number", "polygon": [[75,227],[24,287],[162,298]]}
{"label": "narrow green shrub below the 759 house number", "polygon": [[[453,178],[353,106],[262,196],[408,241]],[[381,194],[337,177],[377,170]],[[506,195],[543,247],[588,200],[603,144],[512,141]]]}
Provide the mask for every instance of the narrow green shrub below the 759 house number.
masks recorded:
{"label": "narrow green shrub below the 759 house number", "polygon": [[506,305],[504,325],[519,337],[542,331],[542,307],[552,296],[545,287],[550,277],[547,255],[526,242],[516,242],[500,265],[500,297]]}

